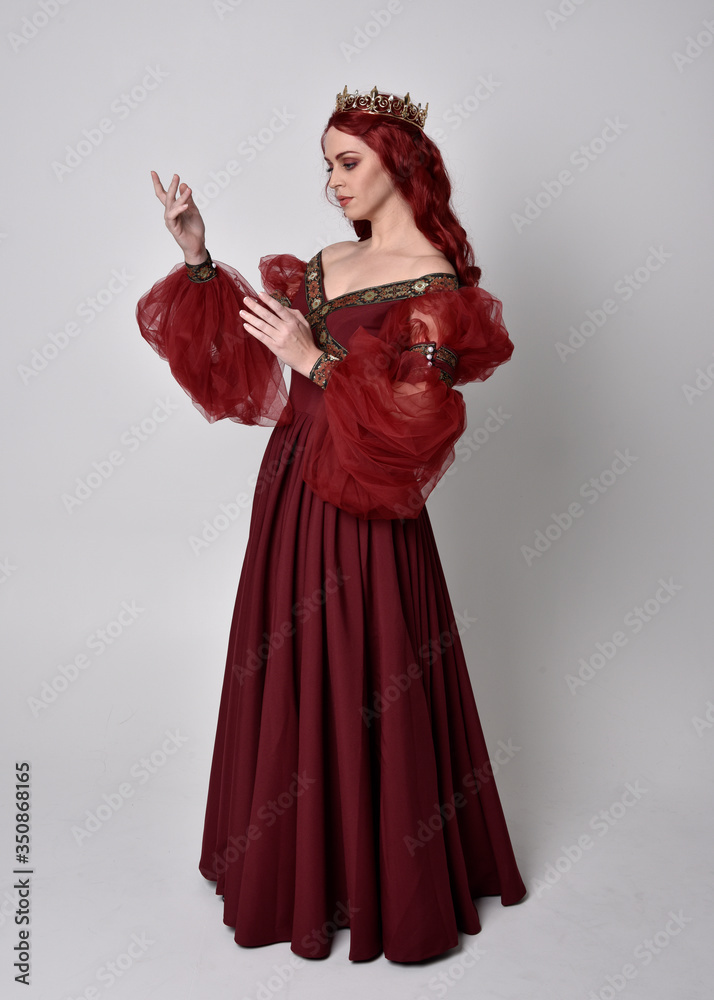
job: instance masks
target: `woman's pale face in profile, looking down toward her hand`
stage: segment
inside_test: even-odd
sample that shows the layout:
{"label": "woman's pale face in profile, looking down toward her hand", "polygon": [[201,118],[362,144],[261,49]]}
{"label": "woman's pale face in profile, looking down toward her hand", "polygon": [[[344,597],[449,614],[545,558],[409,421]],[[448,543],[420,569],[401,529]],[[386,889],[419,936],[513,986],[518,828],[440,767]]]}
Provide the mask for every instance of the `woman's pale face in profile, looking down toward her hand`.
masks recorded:
{"label": "woman's pale face in profile, looking down toward her hand", "polygon": [[399,197],[377,154],[356,135],[327,130],[325,167],[348,219],[371,220]]}

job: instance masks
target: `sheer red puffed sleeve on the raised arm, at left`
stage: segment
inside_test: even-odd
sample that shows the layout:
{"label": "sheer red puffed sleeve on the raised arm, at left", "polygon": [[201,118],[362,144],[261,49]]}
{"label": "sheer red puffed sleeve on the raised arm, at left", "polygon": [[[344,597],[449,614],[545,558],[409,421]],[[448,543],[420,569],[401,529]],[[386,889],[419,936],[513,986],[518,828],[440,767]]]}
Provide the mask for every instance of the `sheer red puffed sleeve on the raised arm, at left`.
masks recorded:
{"label": "sheer red puffed sleeve on the raised arm, at left", "polygon": [[[291,406],[283,362],[245,331],[238,315],[245,296],[257,298],[256,292],[234,268],[214,264],[208,281],[192,281],[183,264],[157,281],[137,305],[141,335],[207,420],[286,423]],[[260,270],[266,291],[286,302],[305,264],[278,254],[262,258]]]}

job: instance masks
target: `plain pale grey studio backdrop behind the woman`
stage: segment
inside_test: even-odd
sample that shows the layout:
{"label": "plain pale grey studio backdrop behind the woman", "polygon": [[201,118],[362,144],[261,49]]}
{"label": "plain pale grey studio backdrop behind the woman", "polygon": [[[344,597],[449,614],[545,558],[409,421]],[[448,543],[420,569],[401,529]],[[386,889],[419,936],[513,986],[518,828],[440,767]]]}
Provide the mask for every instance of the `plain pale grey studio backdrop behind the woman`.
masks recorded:
{"label": "plain pale grey studio backdrop behind the woman", "polygon": [[[714,8],[22,0],[1,19],[7,989],[29,941],[23,995],[47,998],[312,997],[338,975],[355,997],[700,995]],[[480,906],[480,960],[441,985],[350,967],[345,934],[318,985],[221,924],[196,865],[270,430],[209,425],[134,318],[182,259],[152,168],[192,185],[213,257],[254,287],[262,255],[351,238],[319,145],[345,84],[429,102],[515,343],[464,389],[428,509],[531,891]]]}

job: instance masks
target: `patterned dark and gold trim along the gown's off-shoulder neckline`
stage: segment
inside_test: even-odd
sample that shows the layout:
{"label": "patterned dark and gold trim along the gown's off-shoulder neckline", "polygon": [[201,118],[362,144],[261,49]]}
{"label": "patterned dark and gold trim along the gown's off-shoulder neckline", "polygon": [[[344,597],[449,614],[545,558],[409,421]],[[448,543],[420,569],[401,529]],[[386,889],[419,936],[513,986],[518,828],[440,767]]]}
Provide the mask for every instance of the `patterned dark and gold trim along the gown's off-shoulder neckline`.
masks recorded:
{"label": "patterned dark and gold trim along the gown's off-shoulder neckline", "polygon": [[368,288],[358,288],[354,292],[345,292],[334,299],[325,298],[325,288],[322,283],[322,250],[319,250],[305,269],[305,298],[310,310],[307,321],[313,334],[323,350],[329,348],[330,353],[346,357],[347,350],[339,344],[327,329],[327,317],[336,309],[349,306],[373,305],[376,302],[389,302],[393,299],[408,299],[423,295],[427,291],[453,291],[459,287],[459,279],[455,274],[446,271],[433,271],[408,281],[390,281],[385,285],[371,285]]}

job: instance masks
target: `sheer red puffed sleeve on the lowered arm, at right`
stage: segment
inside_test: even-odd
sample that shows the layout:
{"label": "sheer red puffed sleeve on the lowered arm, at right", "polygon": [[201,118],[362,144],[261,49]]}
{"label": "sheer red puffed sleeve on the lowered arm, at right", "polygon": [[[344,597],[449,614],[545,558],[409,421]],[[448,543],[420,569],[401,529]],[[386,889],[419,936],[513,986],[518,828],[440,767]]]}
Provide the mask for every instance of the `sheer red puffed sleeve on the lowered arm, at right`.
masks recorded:
{"label": "sheer red puffed sleeve on the lowered arm, at right", "polygon": [[396,302],[330,369],[306,484],[360,518],[417,517],[466,427],[454,386],[487,379],[512,353],[501,303],[481,288]]}

